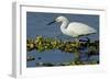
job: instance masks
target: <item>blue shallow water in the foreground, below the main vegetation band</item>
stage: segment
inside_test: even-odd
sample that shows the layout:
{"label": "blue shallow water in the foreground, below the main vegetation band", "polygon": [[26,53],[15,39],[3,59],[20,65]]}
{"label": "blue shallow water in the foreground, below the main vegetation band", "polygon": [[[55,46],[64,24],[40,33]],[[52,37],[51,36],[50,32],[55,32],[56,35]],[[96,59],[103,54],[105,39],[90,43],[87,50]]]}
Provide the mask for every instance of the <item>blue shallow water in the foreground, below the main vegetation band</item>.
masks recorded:
{"label": "blue shallow water in the foreground, below the main vegetation band", "polygon": [[[99,61],[99,55],[94,55],[88,58],[87,54],[84,53],[80,54],[80,60],[81,61]],[[75,60],[75,56],[73,53],[65,53],[61,50],[45,50],[42,53],[36,53],[36,50],[32,50],[28,53],[28,56],[33,56],[35,60],[26,61],[28,67],[38,67],[36,64],[43,62],[43,64],[54,64],[57,66],[57,64],[63,62],[70,62]]]}

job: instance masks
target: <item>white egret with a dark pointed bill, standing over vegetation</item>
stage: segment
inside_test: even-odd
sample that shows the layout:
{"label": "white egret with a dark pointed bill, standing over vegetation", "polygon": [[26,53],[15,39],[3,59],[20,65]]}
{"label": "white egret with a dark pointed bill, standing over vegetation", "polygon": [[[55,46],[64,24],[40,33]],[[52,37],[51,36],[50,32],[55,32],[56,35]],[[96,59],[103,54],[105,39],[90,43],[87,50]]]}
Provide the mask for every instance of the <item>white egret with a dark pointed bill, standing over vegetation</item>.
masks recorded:
{"label": "white egret with a dark pointed bill, standing over vegetation", "polygon": [[69,22],[69,20],[65,16],[56,18],[53,22],[48,23],[48,25],[54,22],[61,22],[62,33],[75,38],[78,38],[79,36],[90,35],[97,32],[95,28],[90,27],[87,24],[80,22]]}

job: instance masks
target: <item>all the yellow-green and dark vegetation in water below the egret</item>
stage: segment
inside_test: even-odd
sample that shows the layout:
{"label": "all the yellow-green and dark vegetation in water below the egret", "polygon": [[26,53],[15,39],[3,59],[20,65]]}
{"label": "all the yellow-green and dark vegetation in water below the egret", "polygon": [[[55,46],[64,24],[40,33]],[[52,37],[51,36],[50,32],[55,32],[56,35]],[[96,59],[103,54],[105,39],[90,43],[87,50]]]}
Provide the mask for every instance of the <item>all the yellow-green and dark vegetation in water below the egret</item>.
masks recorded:
{"label": "all the yellow-green and dark vegetation in water below the egret", "polygon": [[[58,38],[51,38],[51,37],[43,37],[43,36],[36,36],[35,38],[28,38],[26,39],[26,50],[31,52],[36,49],[37,52],[44,52],[44,50],[52,50],[52,49],[59,49],[65,53],[74,54],[75,60],[72,62],[63,62],[59,64],[61,66],[69,66],[69,65],[92,65],[92,64],[99,64],[99,61],[81,61],[80,60],[80,50],[87,49],[85,54],[87,54],[87,57],[89,58],[92,55],[99,55],[99,41],[62,41]],[[41,59],[41,58],[38,58]],[[34,60],[33,57],[28,57],[28,61]],[[38,66],[38,64],[36,64]],[[41,64],[40,64],[41,65]],[[55,66],[54,64],[42,64],[43,66]]]}

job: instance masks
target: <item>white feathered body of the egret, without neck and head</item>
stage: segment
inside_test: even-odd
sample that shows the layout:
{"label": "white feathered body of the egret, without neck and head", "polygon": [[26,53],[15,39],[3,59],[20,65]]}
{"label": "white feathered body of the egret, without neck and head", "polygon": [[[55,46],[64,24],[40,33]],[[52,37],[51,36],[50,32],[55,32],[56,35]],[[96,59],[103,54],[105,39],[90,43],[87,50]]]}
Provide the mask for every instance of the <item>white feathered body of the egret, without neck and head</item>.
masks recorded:
{"label": "white feathered body of the egret, without neck and head", "polygon": [[96,30],[84,23],[73,22],[68,24],[65,32],[66,32],[66,35],[78,37],[82,35],[94,34],[96,33]]}

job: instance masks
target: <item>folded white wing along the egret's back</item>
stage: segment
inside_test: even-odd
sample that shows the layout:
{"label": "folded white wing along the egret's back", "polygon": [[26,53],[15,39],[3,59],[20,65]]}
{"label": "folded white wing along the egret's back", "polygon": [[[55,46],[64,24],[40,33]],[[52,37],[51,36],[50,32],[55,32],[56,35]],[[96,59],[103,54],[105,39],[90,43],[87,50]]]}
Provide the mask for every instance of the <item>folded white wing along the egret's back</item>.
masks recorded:
{"label": "folded white wing along the egret's back", "polygon": [[78,23],[78,22],[70,23],[68,25],[67,30],[77,35],[92,34],[92,33],[97,32],[95,28],[92,28],[84,23]]}

